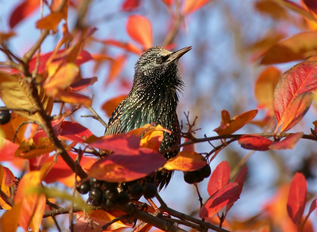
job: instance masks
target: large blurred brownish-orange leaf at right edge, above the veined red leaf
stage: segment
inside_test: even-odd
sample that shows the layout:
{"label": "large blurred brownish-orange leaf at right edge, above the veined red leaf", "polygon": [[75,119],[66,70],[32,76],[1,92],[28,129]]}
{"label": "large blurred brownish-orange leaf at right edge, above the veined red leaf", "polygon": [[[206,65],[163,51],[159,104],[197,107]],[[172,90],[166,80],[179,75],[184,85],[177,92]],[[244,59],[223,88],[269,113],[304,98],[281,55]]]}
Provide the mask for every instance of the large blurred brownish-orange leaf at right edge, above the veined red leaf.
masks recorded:
{"label": "large blurred brownish-orange leaf at right edge, above the veined red leaf", "polygon": [[317,54],[317,32],[303,32],[283,40],[265,52],[261,64],[278,64]]}

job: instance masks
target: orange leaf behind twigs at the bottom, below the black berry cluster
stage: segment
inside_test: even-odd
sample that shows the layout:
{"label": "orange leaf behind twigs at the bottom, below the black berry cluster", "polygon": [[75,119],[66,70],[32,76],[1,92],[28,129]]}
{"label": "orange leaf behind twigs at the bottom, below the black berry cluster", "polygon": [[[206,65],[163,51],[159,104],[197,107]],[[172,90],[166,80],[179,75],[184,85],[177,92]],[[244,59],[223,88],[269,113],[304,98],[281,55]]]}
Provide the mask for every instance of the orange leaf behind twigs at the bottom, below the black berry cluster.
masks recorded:
{"label": "orange leaf behind twigs at the bottom, below the black berry cluster", "polygon": [[[104,224],[106,224],[106,223],[108,223],[116,218],[115,216],[113,216],[113,215],[109,214],[108,212],[101,210],[101,209],[88,211],[86,213],[89,215],[89,218],[94,220],[94,222],[99,223],[100,225],[104,225]],[[77,223],[90,222],[88,220],[87,216],[83,214],[83,212],[76,213],[76,221],[77,221]],[[115,229],[119,229],[122,227],[131,228],[131,226],[127,226],[127,225],[123,224],[121,221],[116,221],[116,222],[112,223],[110,226],[108,226],[107,229],[104,229],[104,231],[115,230]]]}

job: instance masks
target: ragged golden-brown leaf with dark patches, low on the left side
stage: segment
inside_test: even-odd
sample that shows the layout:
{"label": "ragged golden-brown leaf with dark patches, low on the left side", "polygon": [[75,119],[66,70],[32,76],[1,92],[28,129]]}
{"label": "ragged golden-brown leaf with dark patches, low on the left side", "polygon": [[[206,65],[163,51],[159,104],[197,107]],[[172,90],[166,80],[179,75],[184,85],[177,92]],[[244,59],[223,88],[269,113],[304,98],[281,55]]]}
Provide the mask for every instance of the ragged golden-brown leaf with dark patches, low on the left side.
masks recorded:
{"label": "ragged golden-brown leaf with dark patches, low on the left side", "polygon": [[37,143],[34,142],[33,139],[29,139],[29,141],[23,141],[20,144],[19,148],[14,153],[14,157],[31,159],[54,150],[54,145],[47,137],[39,138]]}

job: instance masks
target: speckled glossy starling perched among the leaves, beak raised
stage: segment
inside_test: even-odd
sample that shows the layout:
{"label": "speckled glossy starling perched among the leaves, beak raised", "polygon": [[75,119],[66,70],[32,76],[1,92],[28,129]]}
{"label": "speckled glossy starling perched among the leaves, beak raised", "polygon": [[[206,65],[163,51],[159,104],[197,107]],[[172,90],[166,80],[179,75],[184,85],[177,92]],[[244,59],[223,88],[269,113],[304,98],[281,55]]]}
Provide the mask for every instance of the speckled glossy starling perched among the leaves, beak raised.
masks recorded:
{"label": "speckled glossy starling perched among the leaves, beak raised", "polygon": [[[185,83],[179,74],[178,59],[190,47],[170,52],[154,46],[147,49],[135,64],[133,86],[126,99],[120,102],[112,113],[105,135],[125,133],[146,124],[160,124],[172,132],[179,133],[180,127],[176,109],[178,94],[182,93]],[[178,136],[164,132],[160,151],[180,143]],[[166,159],[175,157],[178,150],[164,154]],[[97,160],[102,158],[103,152]],[[154,183],[161,190],[171,180],[173,171],[157,171],[155,174],[137,181],[121,184],[123,191],[128,191],[134,183],[142,185]]]}

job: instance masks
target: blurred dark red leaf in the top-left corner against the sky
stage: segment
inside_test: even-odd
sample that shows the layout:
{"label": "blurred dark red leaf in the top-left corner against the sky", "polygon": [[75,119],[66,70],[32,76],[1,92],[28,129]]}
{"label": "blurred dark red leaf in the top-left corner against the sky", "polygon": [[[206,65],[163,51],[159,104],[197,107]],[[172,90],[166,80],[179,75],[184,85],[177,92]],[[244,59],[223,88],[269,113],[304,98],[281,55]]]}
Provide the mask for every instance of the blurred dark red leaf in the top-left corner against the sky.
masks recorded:
{"label": "blurred dark red leaf in the top-left corner against the sky", "polygon": [[16,24],[20,23],[26,16],[32,14],[39,6],[40,1],[38,0],[25,0],[20,3],[10,15],[10,28],[15,27]]}

